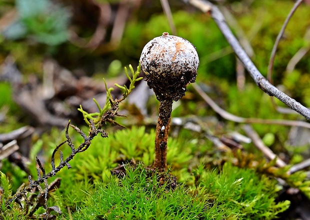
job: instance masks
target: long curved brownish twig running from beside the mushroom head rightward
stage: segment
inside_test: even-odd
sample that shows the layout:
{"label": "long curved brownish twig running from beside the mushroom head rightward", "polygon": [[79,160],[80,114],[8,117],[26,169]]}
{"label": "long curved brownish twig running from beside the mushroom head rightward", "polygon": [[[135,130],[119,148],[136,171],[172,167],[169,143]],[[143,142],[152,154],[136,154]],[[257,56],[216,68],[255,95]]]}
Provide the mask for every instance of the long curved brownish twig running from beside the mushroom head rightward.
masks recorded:
{"label": "long curved brownish twig running from beside the mushroom head rightward", "polygon": [[263,119],[263,118],[246,118],[231,114],[219,107],[197,84],[192,84],[193,88],[205,100],[208,105],[221,117],[238,123],[262,123],[262,124],[278,124],[288,126],[300,126],[310,128],[310,123],[300,120],[284,120],[284,119]]}

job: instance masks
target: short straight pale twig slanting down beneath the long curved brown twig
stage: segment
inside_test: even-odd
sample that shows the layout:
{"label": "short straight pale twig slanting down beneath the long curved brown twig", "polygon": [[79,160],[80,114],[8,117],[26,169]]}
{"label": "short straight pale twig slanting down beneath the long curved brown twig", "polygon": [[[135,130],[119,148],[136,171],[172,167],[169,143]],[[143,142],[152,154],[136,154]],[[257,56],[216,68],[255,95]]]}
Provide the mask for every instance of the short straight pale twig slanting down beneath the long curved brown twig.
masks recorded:
{"label": "short straight pale twig slanting down beneath the long curved brown twig", "polygon": [[[256,131],[249,124],[243,125],[243,130],[252,139],[254,145],[270,160],[274,159],[276,155],[262,142]],[[286,163],[280,158],[276,158],[276,165],[278,167],[283,167]]]}

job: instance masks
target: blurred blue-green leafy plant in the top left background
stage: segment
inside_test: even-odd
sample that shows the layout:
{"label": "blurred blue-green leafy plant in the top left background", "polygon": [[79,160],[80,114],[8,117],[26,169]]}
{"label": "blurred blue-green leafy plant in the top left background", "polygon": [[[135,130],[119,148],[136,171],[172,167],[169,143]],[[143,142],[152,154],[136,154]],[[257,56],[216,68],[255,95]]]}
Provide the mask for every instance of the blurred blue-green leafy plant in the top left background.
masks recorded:
{"label": "blurred blue-green leafy plant in the top left background", "polygon": [[50,0],[16,0],[18,20],[3,35],[17,40],[24,37],[50,46],[67,40],[69,11]]}

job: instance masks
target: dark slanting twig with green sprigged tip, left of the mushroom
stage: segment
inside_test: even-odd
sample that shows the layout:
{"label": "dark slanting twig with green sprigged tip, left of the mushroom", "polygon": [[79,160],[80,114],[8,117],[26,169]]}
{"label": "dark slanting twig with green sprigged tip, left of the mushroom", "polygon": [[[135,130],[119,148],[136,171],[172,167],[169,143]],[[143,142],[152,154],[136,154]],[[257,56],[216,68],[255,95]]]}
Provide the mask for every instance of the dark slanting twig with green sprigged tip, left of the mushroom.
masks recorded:
{"label": "dark slanting twig with green sprigged tip, left of the mushroom", "polygon": [[[78,127],[76,126],[73,126],[73,125],[70,125],[70,121],[67,123],[66,125],[66,130],[65,130],[65,137],[66,137],[66,140],[61,142],[59,145],[57,145],[54,149],[54,151],[52,152],[52,155],[51,155],[51,171],[46,173],[41,161],[38,159],[38,157],[36,157],[36,162],[37,162],[37,165],[38,165],[38,168],[37,168],[37,179],[36,180],[33,180],[32,179],[32,176],[31,175],[28,175],[28,181],[29,181],[29,184],[27,186],[22,186],[20,188],[20,190],[18,190],[14,195],[12,195],[9,199],[7,199],[5,201],[6,205],[10,205],[11,202],[17,202],[18,204],[21,205],[21,199],[23,198],[24,199],[24,209],[25,209],[25,212],[28,213],[28,208],[29,208],[29,204],[30,204],[30,201],[28,200],[26,194],[27,192],[34,192],[34,188],[37,188],[41,194],[41,196],[44,195],[44,204],[45,204],[45,210],[46,210],[46,219],[48,216],[50,216],[49,212],[51,210],[54,210],[56,211],[57,213],[61,213],[60,209],[57,207],[57,206],[51,206],[51,207],[47,207],[47,193],[48,193],[48,182],[47,182],[47,179],[54,176],[60,169],[62,169],[64,166],[66,166],[68,169],[71,168],[71,165],[69,164],[69,161],[71,159],[73,159],[73,157],[79,153],[79,152],[83,152],[85,151],[91,144],[91,140],[98,134],[100,133],[102,137],[107,137],[107,133],[101,129],[102,126],[104,124],[106,124],[106,122],[113,122],[113,120],[110,118],[110,117],[113,117],[113,116],[125,116],[125,115],[121,115],[119,114],[117,111],[119,109],[119,103],[124,100],[128,94],[132,91],[132,89],[134,88],[134,83],[138,80],[141,79],[141,77],[137,77],[138,74],[139,74],[139,66],[137,68],[137,71],[134,73],[133,72],[133,69],[131,67],[131,65],[129,66],[132,70],[132,78],[127,74],[127,77],[129,78],[130,80],[130,85],[129,85],[129,89],[126,88],[125,86],[123,86],[124,88],[124,92],[123,92],[123,95],[121,98],[119,99],[115,99],[113,100],[112,99],[112,96],[111,94],[109,93],[109,89],[107,89],[107,93],[108,93],[108,97],[109,97],[109,102],[110,102],[110,108],[108,110],[102,110],[102,115],[100,115],[100,117],[98,118],[98,121],[96,122],[96,124],[93,122],[92,119],[89,119],[87,118],[87,122],[89,124],[89,132],[88,132],[88,136],[83,133],[83,131],[81,129],[79,129]],[[105,84],[106,85],[106,84]],[[119,86],[119,87],[122,87],[122,86]],[[100,111],[101,111],[101,108],[100,108]],[[85,112],[87,113],[87,112]],[[86,117],[85,115],[83,115],[84,117]],[[68,129],[69,129],[69,126],[71,126],[77,133],[79,133],[84,141],[82,143],[80,143],[80,145],[78,147],[74,147],[74,144],[72,143],[71,141],[71,138],[69,136],[69,133],[68,133]],[[63,154],[62,152],[60,151],[60,147],[62,145],[68,145],[70,148],[71,148],[71,153],[69,156],[67,156],[65,159],[63,158]],[[56,166],[55,165],[55,153],[56,152],[59,152],[59,158],[60,158],[60,162],[59,164]],[[40,184],[44,184],[44,189],[41,187]],[[32,213],[32,211],[30,211],[30,213]],[[44,216],[45,216],[44,215]],[[29,214],[28,214],[29,216]]]}

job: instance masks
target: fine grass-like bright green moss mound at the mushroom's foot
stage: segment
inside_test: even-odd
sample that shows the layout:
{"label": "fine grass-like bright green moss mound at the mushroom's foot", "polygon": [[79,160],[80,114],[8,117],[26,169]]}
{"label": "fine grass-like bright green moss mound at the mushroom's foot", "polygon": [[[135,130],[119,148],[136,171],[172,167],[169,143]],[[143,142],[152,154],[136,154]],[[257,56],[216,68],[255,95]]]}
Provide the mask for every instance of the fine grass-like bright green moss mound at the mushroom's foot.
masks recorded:
{"label": "fine grass-like bright green moss mound at the mushroom's foot", "polygon": [[[85,204],[72,214],[82,219],[220,219],[223,211],[206,211],[206,199],[187,192],[184,185],[173,191],[159,186],[157,176],[145,168],[127,170],[124,178],[97,184],[85,192]],[[208,217],[206,217],[208,216]]]}

